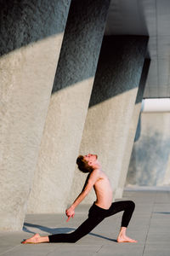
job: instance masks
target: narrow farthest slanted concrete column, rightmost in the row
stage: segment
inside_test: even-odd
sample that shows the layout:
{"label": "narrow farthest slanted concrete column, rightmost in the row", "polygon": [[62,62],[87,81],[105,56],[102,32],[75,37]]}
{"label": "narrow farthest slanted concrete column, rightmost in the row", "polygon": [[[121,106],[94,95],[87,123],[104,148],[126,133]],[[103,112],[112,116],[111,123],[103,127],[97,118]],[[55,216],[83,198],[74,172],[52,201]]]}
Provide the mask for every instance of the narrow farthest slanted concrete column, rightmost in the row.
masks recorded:
{"label": "narrow farthest slanted concrete column, rightmost in the row", "polygon": [[123,156],[123,160],[122,160],[122,170],[120,172],[118,186],[116,188],[116,198],[122,198],[122,193],[123,193],[124,185],[125,185],[126,178],[127,178],[127,170],[128,170],[128,166],[129,166],[130,156],[131,156],[132,150],[133,150],[134,137],[135,137],[138,121],[139,121],[139,114],[140,114],[140,110],[141,110],[142,99],[144,96],[144,87],[146,84],[146,79],[148,76],[149,68],[150,68],[150,59],[145,59],[144,67],[142,70],[142,75],[141,75],[140,83],[139,83],[139,90],[138,90],[136,102],[135,102],[134,109],[133,109],[133,117],[131,120],[129,132],[128,132],[128,136],[127,136],[127,143],[126,143],[126,147],[124,149],[124,156]]}

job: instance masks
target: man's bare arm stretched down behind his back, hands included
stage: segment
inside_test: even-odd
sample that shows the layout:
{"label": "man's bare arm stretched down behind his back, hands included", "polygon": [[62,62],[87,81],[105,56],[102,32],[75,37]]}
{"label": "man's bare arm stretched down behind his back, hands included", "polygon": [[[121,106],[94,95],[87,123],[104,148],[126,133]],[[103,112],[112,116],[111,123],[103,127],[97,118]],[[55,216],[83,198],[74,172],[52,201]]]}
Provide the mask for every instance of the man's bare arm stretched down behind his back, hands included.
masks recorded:
{"label": "man's bare arm stretched down behind his back, hands included", "polygon": [[93,188],[94,183],[98,180],[99,178],[99,170],[94,170],[88,175],[88,178],[85,182],[85,185],[82,189],[82,192],[80,195],[77,196],[77,199],[73,202],[71,207],[66,209],[65,213],[66,216],[68,217],[67,221],[70,220],[70,218],[74,218],[75,215],[75,208],[83,201],[83,199],[88,195],[89,191]]}

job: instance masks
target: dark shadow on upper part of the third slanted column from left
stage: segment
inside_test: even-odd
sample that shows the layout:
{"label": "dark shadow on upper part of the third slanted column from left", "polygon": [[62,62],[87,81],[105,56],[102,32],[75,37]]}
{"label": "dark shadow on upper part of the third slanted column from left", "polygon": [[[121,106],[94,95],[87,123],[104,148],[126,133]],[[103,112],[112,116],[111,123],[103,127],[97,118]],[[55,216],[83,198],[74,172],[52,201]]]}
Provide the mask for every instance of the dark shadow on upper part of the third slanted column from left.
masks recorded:
{"label": "dark shadow on upper part of the third slanted column from left", "polygon": [[105,36],[89,108],[139,86],[147,43],[147,36]]}

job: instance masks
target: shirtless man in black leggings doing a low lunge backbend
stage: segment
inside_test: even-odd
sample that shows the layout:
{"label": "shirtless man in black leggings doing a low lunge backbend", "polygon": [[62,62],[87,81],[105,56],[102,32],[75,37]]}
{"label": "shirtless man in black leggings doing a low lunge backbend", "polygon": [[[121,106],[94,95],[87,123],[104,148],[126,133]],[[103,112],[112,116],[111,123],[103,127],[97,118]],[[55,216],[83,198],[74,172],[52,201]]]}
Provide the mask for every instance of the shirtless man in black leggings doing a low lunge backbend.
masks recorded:
{"label": "shirtless man in black leggings doing a low lunge backbend", "polygon": [[65,214],[70,218],[74,218],[75,208],[88,195],[88,192],[94,187],[96,194],[96,201],[89,209],[88,219],[85,220],[77,230],[69,234],[55,234],[50,236],[40,236],[36,234],[22,243],[40,243],[40,242],[76,242],[82,236],[86,236],[94,229],[104,218],[107,218],[117,212],[123,212],[122,225],[117,242],[137,242],[126,236],[127,225],[133,215],[134,203],[133,201],[117,201],[112,203],[112,189],[111,183],[105,173],[101,170],[98,156],[96,154],[79,155],[77,158],[77,165],[80,171],[88,172],[88,177],[82,192],[77,199],[69,207]]}

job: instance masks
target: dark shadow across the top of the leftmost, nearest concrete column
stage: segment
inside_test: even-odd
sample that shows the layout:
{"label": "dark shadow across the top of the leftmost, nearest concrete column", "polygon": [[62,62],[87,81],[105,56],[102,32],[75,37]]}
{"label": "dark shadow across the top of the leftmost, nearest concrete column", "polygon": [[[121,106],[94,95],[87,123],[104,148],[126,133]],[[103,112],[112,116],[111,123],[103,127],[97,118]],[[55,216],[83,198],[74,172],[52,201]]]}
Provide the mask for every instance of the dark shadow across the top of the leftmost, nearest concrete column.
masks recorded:
{"label": "dark shadow across the top of the leftmost, nearest concrete column", "polygon": [[64,32],[71,0],[0,1],[0,55]]}

